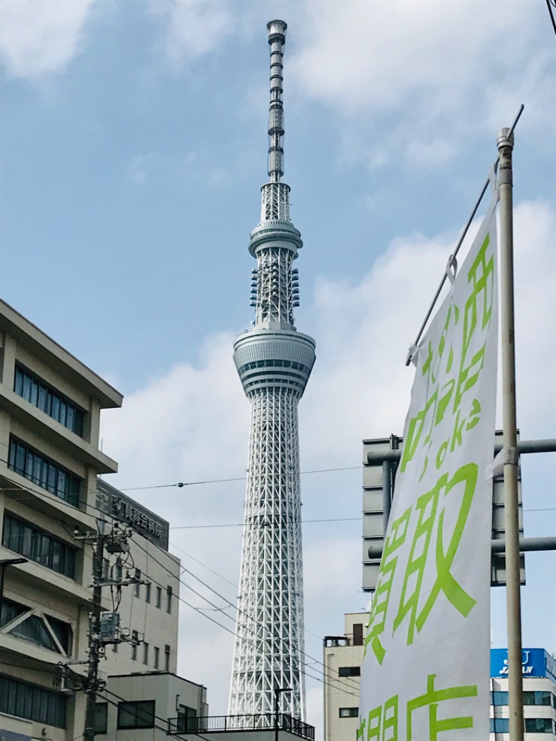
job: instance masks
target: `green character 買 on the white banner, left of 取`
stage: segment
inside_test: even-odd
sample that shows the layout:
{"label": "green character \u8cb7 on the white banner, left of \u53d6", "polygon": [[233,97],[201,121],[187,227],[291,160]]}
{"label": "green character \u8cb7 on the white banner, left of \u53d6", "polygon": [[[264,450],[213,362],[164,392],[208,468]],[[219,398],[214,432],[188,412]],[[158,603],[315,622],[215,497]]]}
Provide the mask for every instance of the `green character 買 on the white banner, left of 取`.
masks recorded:
{"label": "green character \u8cb7 on the white banner, left of \u53d6", "polygon": [[390,601],[392,582],[394,581],[397,565],[397,556],[393,554],[406,542],[410,516],[411,508],[408,508],[402,516],[392,523],[391,532],[386,539],[383,557],[380,561],[377,588],[374,591],[371,614],[368,619],[368,633],[365,639],[365,653],[370,646],[379,664],[382,664],[385,657],[385,649],[380,642],[380,635],[384,631],[388,602]]}

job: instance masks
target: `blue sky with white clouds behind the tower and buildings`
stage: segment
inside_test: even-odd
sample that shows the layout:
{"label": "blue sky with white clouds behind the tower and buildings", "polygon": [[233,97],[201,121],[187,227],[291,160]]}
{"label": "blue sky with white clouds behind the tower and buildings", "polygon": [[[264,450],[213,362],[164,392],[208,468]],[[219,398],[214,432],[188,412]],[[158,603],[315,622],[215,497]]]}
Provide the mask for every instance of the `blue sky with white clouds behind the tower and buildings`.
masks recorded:
{"label": "blue sky with white clouds behind the tower and buildings", "polygon": [[[317,340],[300,405],[302,470],[352,468],[302,479],[305,519],[351,518],[305,525],[307,650],[320,659],[322,636],[366,602],[361,440],[403,430],[408,344],[497,156],[497,130],[522,102],[518,417],[523,438],[556,436],[556,36],[546,6],[0,0],[0,13],[1,296],[125,394],[103,426],[120,488],[245,473],[248,403],[231,346],[251,321],[265,24],[288,22],[284,179],[305,242],[297,327]],[[554,462],[537,456],[523,471],[526,508],[543,510],[527,515],[526,534],[555,534]],[[234,525],[172,531],[185,568],[232,600],[221,576],[239,574],[243,492],[242,481],[135,492],[175,528]],[[556,611],[555,566],[552,554],[530,556],[523,592],[526,643],[551,651],[555,623],[542,615]],[[502,602],[498,593],[500,646]],[[231,634],[185,606],[181,625],[179,670],[224,713]],[[309,681],[316,725],[321,695]]]}

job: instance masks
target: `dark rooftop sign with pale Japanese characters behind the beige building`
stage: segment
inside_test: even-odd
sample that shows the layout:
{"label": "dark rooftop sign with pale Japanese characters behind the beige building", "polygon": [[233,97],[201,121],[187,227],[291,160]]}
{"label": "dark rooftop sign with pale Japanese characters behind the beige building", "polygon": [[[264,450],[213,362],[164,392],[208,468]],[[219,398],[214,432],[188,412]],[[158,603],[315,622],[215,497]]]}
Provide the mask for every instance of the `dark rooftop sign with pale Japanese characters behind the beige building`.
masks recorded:
{"label": "dark rooftop sign with pale Japanese characters behind the beige building", "polygon": [[168,522],[102,479],[96,482],[96,506],[107,515],[131,525],[139,534],[168,551]]}

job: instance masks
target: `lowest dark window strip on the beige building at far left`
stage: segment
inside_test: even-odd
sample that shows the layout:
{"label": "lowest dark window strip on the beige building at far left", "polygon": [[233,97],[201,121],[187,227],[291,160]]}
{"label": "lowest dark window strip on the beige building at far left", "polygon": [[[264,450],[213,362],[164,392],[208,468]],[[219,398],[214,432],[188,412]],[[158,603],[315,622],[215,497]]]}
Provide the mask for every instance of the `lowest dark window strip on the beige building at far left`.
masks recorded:
{"label": "lowest dark window strip on the beige building at far left", "polygon": [[21,679],[0,675],[0,713],[66,727],[66,698]]}

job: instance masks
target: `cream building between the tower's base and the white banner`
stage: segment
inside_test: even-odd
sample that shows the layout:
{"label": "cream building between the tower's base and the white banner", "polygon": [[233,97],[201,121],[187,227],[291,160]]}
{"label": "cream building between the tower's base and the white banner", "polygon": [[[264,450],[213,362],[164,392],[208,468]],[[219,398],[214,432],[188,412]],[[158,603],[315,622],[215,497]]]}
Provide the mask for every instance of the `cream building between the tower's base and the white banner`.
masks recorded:
{"label": "cream building between the tower's base and the white banner", "polygon": [[359,726],[363,632],[368,613],[344,616],[344,634],[324,639],[324,741],[353,741]]}

